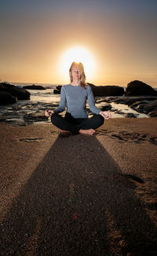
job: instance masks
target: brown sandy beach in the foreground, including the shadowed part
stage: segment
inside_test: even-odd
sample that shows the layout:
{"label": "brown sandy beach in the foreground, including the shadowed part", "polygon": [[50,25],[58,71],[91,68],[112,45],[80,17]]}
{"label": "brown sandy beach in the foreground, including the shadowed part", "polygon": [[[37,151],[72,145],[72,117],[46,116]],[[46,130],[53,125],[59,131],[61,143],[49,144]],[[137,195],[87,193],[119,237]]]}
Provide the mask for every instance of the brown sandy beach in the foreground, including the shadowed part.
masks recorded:
{"label": "brown sandy beach in the foreground, including the shadowed part", "polygon": [[0,134],[1,255],[157,254],[157,117]]}

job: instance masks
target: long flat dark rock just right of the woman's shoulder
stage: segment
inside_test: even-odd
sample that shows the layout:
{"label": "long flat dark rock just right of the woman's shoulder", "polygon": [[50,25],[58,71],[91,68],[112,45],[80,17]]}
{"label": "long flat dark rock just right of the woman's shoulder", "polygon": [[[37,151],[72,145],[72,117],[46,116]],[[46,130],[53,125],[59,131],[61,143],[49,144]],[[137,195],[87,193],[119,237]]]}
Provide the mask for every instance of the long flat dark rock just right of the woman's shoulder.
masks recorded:
{"label": "long flat dark rock just right of the woman's shoulder", "polygon": [[124,88],[115,85],[92,87],[93,95],[96,96],[122,96]]}

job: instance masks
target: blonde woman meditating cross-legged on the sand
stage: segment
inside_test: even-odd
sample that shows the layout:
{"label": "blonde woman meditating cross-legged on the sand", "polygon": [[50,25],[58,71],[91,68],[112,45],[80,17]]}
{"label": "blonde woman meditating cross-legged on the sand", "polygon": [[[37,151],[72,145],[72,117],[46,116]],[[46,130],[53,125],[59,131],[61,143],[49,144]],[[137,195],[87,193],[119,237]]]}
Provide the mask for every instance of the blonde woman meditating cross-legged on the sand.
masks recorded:
{"label": "blonde woman meditating cross-legged on the sand", "polygon": [[[93,91],[86,83],[86,75],[81,62],[72,62],[69,69],[71,83],[61,87],[60,105],[55,110],[46,110],[46,117],[51,117],[52,123],[60,129],[61,135],[77,135],[79,133],[93,135],[95,129],[104,124],[104,118],[111,118],[110,111],[100,111],[95,106]],[[86,113],[86,99],[89,109],[93,113],[88,117]],[[65,110],[64,117],[59,113]]]}

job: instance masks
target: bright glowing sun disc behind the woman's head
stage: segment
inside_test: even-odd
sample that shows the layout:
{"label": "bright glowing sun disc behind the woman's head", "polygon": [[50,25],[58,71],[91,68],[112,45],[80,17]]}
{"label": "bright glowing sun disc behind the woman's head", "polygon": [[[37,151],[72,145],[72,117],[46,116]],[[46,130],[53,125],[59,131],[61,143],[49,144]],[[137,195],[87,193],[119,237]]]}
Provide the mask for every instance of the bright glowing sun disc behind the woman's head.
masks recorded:
{"label": "bright glowing sun disc behind the woman's head", "polygon": [[94,74],[96,73],[96,63],[89,50],[86,50],[82,46],[73,46],[61,55],[60,76],[63,76],[64,80],[69,81],[69,69],[73,61],[80,61],[84,65],[86,82],[93,80]]}

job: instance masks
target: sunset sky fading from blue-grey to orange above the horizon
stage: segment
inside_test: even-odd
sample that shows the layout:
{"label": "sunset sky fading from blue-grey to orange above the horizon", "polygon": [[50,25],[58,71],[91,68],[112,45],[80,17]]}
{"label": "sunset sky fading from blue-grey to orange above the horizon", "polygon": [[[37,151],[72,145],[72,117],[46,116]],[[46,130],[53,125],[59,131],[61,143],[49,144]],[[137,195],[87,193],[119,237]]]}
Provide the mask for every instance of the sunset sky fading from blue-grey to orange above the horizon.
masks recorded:
{"label": "sunset sky fading from blue-grey to orange above the horizon", "polygon": [[157,87],[156,24],[156,0],[1,0],[0,80],[69,83],[76,54],[89,83]]}

